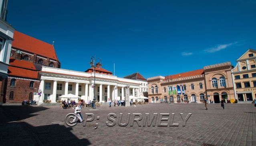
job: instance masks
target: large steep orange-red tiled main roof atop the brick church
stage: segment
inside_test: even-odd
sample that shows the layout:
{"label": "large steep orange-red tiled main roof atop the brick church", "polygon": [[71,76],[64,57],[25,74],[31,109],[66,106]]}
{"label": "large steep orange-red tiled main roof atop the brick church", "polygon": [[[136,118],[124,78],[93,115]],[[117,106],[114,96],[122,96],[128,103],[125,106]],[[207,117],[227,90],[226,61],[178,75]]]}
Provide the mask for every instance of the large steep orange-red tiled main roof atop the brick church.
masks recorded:
{"label": "large steep orange-red tiled main roof atop the brick church", "polygon": [[14,41],[12,41],[12,47],[32,52],[44,57],[48,57],[54,60],[58,60],[54,47],[51,44],[32,38],[21,32],[14,31]]}

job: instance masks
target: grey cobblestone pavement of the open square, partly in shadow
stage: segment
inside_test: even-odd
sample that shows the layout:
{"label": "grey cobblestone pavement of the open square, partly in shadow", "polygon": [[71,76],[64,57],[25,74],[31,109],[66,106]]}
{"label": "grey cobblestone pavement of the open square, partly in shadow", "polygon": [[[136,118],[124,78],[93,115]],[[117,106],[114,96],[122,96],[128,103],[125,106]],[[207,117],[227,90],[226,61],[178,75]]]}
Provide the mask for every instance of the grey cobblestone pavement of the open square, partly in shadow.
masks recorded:
{"label": "grey cobblestone pavement of the open square, partly in shadow", "polygon": [[[225,104],[225,110],[220,104],[147,104],[137,106],[112,106],[107,104],[97,107],[97,110],[82,108],[85,113],[95,114],[95,120],[74,127],[67,126],[64,118],[73,109],[62,109],[60,106],[2,106],[0,108],[0,138],[2,146],[12,145],[149,145],[149,146],[256,146],[256,109],[253,104]],[[117,115],[116,125],[106,125],[107,115]],[[120,113],[123,113],[122,123],[129,119],[127,113],[141,113],[142,121],[145,113],[150,117],[157,113],[156,126],[138,126],[131,121],[125,127],[118,125]],[[160,113],[170,113],[169,121],[179,126],[157,126]],[[192,113],[183,125],[180,113],[186,117]],[[96,120],[99,116],[100,119]],[[132,118],[132,116],[131,116]],[[137,116],[136,116],[137,118]],[[166,118],[166,117],[163,117]],[[109,121],[112,123],[111,121]],[[95,123],[99,123],[94,129]]]}

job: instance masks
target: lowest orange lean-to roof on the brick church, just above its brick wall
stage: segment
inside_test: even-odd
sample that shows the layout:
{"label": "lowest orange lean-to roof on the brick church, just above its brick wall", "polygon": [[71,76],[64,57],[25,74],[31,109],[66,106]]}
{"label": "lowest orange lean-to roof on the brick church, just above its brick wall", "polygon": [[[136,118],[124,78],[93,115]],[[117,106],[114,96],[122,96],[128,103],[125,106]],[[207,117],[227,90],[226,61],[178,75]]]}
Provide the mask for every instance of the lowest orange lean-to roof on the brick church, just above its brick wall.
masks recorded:
{"label": "lowest orange lean-to roof on the brick church, just above its brick wall", "polygon": [[37,73],[37,71],[33,71],[33,70],[27,70],[27,69],[23,69],[23,68],[8,66],[8,75],[37,79],[38,73]]}

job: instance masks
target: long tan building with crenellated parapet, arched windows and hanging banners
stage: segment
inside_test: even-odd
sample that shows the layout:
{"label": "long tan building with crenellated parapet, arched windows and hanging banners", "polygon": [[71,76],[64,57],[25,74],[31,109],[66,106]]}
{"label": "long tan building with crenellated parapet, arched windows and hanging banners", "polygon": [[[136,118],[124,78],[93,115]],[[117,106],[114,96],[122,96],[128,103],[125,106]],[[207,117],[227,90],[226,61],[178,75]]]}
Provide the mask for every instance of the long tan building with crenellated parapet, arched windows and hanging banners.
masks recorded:
{"label": "long tan building with crenellated parapet, arched windows and hanging banners", "polygon": [[[205,66],[200,70],[148,78],[149,102],[202,103],[208,97],[209,102],[211,99],[220,103],[224,97],[234,99],[231,69],[230,62],[225,62]],[[177,93],[177,86],[180,87],[181,94]],[[168,91],[170,87],[176,94]]]}

